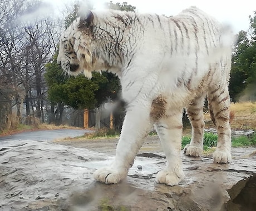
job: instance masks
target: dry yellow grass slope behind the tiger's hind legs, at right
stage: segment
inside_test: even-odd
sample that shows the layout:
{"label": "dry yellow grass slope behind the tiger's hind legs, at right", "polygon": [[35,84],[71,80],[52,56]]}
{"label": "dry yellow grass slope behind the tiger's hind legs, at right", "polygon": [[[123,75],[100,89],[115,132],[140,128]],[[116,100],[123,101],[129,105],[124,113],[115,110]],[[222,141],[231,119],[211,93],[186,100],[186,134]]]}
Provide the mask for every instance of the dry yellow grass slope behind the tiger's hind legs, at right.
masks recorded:
{"label": "dry yellow grass slope behind the tiger's hind legs, at right", "polygon": [[[230,123],[232,129],[256,129],[256,103],[232,103],[230,110],[234,115]],[[214,127],[209,113],[205,114],[205,122],[206,128]]]}

